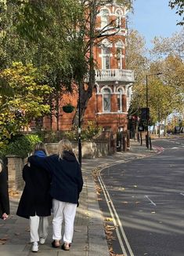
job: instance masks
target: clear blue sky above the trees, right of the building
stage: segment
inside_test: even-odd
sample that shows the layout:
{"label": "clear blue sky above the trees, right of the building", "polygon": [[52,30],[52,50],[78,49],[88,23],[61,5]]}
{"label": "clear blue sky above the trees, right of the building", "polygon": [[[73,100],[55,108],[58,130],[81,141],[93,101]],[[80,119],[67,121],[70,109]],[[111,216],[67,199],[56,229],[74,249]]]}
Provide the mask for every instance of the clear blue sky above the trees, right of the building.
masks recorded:
{"label": "clear blue sky above the trees, right of the building", "polygon": [[171,37],[181,26],[176,26],[181,17],[168,6],[169,0],[135,0],[134,14],[129,14],[128,27],[139,31],[146,39],[146,47],[155,36]]}

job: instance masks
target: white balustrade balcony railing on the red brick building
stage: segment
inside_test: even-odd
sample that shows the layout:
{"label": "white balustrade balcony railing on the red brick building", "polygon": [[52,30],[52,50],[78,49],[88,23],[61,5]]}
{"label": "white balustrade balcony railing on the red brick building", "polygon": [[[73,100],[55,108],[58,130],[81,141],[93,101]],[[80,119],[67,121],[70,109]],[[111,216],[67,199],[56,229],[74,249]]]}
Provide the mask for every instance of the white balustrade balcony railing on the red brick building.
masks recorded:
{"label": "white balustrade balcony railing on the red brick building", "polygon": [[99,69],[96,70],[96,82],[99,81],[134,82],[134,71],[125,69]]}

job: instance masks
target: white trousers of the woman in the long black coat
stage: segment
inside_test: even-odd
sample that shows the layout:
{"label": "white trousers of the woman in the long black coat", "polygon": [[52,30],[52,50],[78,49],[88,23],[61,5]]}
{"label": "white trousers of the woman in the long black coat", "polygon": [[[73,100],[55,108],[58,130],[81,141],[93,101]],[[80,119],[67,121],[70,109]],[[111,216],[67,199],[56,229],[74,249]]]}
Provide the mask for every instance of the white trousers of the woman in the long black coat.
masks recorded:
{"label": "white trousers of the woman in the long black coat", "polygon": [[48,236],[49,220],[48,217],[30,216],[31,242],[38,242],[40,237]]}

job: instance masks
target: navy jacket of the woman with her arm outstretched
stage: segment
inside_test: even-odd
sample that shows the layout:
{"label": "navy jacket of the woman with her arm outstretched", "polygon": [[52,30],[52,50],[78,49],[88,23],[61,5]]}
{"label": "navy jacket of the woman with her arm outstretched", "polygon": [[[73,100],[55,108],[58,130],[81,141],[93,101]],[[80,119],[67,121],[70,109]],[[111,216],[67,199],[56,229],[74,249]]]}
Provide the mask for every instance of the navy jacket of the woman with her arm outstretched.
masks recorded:
{"label": "navy jacket of the woman with her arm outstretched", "polygon": [[50,155],[44,158],[31,156],[28,161],[49,170],[52,174],[50,190],[52,198],[67,203],[78,203],[83,180],[81,166],[73,152],[64,152],[63,159],[59,159],[59,155]]}

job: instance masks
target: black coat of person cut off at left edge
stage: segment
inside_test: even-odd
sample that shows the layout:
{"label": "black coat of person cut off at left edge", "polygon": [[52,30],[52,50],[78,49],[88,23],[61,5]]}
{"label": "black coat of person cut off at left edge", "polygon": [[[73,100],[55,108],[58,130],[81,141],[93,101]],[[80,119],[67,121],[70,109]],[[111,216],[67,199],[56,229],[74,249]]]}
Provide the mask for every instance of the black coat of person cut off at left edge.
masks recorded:
{"label": "black coat of person cut off at left edge", "polygon": [[2,214],[9,215],[9,192],[8,192],[8,171],[6,169],[6,159],[2,163],[2,171],[0,172],[0,218]]}

